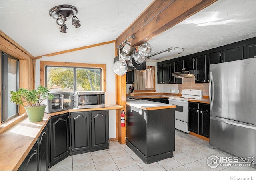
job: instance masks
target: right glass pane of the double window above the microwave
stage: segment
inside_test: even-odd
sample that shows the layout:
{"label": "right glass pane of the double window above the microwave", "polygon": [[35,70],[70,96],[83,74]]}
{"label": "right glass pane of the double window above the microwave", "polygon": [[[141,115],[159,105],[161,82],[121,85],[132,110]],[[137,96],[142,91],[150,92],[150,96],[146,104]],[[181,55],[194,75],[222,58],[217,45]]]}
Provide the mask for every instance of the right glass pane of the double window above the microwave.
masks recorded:
{"label": "right glass pane of the double window above the microwave", "polygon": [[99,91],[101,69],[77,68],[76,90],[77,91]]}

